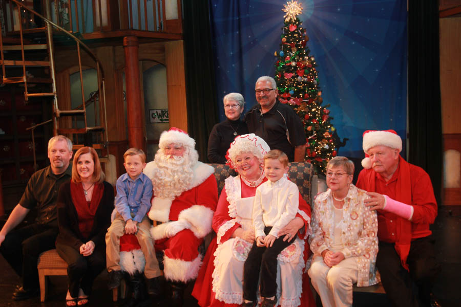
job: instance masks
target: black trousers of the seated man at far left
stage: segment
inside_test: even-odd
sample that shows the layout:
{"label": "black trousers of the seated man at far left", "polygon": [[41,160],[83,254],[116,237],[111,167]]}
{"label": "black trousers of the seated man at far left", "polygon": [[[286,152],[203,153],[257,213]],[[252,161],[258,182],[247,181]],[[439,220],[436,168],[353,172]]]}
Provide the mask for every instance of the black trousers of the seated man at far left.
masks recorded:
{"label": "black trousers of the seated man at far left", "polygon": [[5,236],[0,252],[21,277],[25,290],[38,289],[38,256],[54,249],[57,234],[57,227],[32,224]]}

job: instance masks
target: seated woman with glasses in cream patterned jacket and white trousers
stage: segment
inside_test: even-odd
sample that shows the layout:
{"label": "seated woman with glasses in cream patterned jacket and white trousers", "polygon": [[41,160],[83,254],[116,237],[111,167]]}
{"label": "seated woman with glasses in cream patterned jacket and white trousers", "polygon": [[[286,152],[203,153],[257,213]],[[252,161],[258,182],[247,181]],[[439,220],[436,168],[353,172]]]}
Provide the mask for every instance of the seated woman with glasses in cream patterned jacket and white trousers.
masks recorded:
{"label": "seated woman with glasses in cream patterned jacket and white trousers", "polygon": [[366,191],[352,184],[354,164],[334,157],[327,164],[328,190],[315,201],[312,214],[313,252],[308,274],[324,307],[352,306],[352,284],[378,283],[376,212],[364,205]]}

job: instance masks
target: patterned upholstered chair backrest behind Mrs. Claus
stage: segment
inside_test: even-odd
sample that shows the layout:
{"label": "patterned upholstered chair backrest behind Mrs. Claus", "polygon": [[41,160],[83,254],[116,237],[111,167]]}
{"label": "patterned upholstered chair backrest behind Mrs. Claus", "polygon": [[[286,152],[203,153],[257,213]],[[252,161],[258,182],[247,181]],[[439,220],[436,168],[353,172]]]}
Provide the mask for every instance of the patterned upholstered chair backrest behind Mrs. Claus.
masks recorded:
{"label": "patterned upholstered chair backrest behind Mrs. Claus", "polygon": [[[218,195],[224,188],[224,180],[229,176],[236,176],[234,170],[225,164],[209,164],[215,168],[215,178],[218,183]],[[288,178],[296,183],[298,189],[308,204],[311,203],[313,167],[308,162],[288,163]]]}

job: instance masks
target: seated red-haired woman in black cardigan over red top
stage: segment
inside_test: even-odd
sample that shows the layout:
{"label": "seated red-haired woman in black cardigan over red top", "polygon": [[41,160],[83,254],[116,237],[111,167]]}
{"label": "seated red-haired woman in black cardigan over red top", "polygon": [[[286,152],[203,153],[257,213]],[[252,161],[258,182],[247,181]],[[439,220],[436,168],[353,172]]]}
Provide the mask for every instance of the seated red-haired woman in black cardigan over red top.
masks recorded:
{"label": "seated red-haired woman in black cardigan over red top", "polygon": [[59,188],[56,250],[68,263],[67,306],[88,304],[93,281],[106,268],[104,236],[111,225],[114,188],[104,181],[96,151],[77,150],[72,180]]}

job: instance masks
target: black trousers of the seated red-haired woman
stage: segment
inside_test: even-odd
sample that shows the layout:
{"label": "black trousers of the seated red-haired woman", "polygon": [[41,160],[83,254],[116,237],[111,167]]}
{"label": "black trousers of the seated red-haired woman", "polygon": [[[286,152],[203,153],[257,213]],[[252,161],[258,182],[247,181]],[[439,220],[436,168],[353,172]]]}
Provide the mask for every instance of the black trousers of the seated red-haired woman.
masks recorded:
{"label": "black trousers of the seated red-haired woman", "polygon": [[70,295],[77,297],[79,288],[90,295],[93,281],[106,269],[106,246],[96,247],[89,256],[83,256],[75,248],[59,243],[56,244],[56,251],[69,265],[67,277]]}

